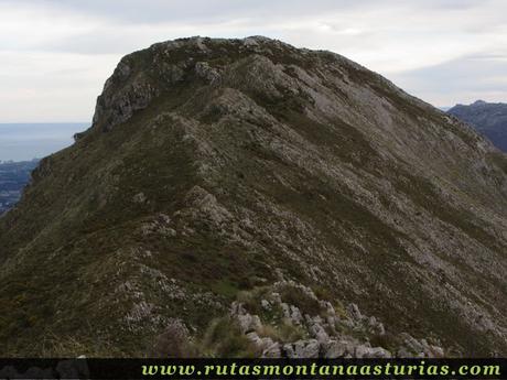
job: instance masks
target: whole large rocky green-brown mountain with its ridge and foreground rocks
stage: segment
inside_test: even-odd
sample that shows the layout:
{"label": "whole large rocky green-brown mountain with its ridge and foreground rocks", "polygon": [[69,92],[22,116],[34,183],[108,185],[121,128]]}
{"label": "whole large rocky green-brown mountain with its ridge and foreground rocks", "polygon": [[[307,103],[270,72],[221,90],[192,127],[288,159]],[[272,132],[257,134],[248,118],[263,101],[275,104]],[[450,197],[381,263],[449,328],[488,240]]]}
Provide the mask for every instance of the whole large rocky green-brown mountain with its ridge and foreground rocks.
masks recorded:
{"label": "whole large rocky green-brown mountain with its ridge and foreground rocks", "polygon": [[507,355],[506,155],[266,37],[123,57],[0,242],[3,356]]}

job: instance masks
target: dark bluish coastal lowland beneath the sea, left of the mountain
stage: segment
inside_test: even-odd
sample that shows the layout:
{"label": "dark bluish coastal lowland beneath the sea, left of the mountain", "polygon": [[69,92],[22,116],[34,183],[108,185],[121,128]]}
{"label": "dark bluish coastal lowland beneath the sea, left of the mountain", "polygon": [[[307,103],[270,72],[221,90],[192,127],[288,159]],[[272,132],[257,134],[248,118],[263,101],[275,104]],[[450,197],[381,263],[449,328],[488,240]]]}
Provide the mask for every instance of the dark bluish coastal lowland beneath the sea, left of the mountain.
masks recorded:
{"label": "dark bluish coastal lowland beneath the sea, left of the mountain", "polygon": [[10,209],[21,197],[39,161],[0,162],[0,215]]}

